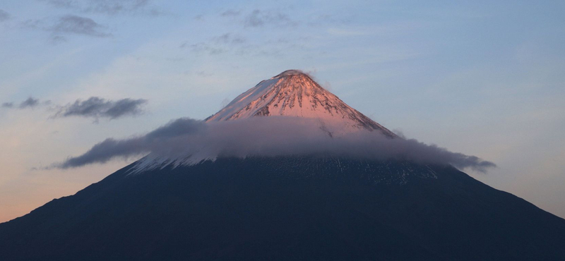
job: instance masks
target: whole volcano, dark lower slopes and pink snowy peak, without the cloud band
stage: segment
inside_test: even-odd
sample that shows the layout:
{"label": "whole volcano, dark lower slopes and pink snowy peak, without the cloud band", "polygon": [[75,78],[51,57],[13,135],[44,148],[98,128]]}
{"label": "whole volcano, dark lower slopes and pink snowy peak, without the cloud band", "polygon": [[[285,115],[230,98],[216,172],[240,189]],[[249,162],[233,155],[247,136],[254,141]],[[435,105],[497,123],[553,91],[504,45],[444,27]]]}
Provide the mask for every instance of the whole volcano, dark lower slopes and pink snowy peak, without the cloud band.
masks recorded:
{"label": "whole volcano, dark lower slopes and pink snowy peak, without the cloud band", "polygon": [[[401,139],[300,71],[207,123]],[[565,260],[565,220],[449,164],[327,155],[138,162],[0,224],[0,260]]]}

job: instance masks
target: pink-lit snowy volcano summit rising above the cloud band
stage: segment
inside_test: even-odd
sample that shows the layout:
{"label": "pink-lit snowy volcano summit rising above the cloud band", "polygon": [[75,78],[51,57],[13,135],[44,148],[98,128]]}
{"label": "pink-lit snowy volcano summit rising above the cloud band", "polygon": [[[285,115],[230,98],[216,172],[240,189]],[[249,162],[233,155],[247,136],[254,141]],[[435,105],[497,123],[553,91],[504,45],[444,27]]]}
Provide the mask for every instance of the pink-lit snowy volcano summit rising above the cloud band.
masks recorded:
{"label": "pink-lit snowy volcano summit rising above the cloud band", "polygon": [[349,107],[306,73],[298,70],[284,71],[261,81],[206,121],[232,121],[254,116],[319,119],[320,127],[329,135],[379,130],[390,138],[396,138],[390,130]]}

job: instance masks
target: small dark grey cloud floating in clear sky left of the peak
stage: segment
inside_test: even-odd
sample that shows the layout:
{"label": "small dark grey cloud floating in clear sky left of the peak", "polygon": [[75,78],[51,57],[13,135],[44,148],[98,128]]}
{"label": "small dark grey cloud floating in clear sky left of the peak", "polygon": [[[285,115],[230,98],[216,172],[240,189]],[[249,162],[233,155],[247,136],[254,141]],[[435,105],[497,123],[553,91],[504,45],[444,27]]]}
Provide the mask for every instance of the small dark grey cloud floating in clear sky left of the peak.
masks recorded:
{"label": "small dark grey cloud floating in clear sky left of the peak", "polygon": [[92,117],[118,119],[122,116],[135,116],[143,111],[141,107],[148,101],[146,99],[119,99],[117,101],[90,97],[83,101],[77,99],[73,104],[61,107],[54,117]]}

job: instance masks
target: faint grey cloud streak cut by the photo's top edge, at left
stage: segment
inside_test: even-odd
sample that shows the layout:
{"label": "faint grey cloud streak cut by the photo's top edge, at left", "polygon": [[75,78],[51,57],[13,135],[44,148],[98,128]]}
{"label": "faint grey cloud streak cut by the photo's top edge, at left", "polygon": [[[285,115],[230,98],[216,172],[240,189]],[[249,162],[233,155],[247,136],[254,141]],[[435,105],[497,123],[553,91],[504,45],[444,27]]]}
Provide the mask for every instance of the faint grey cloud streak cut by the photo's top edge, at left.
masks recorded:
{"label": "faint grey cloud streak cut by the photo's top edge, at left", "polygon": [[101,13],[115,16],[124,13],[145,13],[158,16],[163,12],[149,6],[150,0],[40,0],[58,8],[83,13]]}

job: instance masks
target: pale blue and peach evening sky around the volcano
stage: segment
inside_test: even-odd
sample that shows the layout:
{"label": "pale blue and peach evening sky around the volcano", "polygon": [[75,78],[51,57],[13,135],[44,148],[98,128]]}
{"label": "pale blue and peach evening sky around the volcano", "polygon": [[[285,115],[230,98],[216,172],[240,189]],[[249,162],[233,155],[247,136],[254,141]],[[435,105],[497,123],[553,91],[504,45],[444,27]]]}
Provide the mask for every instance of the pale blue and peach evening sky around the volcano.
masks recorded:
{"label": "pale blue and peach evening sky around the volcano", "polygon": [[0,222],[137,157],[48,168],[205,119],[300,69],[470,176],[565,217],[564,1],[0,2]]}

